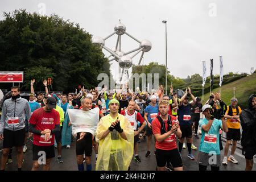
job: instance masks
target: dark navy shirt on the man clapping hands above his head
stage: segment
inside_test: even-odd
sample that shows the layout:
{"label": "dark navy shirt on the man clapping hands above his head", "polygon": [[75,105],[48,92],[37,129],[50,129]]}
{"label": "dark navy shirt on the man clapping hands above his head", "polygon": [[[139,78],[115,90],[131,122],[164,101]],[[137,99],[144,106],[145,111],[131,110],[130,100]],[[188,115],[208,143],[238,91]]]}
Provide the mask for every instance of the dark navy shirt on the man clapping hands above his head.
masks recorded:
{"label": "dark navy shirt on the man clapping hands above his head", "polygon": [[178,120],[180,122],[180,125],[191,125],[191,108],[192,105],[188,104],[187,106],[181,105],[179,106],[179,110],[177,111],[177,114],[179,115]]}

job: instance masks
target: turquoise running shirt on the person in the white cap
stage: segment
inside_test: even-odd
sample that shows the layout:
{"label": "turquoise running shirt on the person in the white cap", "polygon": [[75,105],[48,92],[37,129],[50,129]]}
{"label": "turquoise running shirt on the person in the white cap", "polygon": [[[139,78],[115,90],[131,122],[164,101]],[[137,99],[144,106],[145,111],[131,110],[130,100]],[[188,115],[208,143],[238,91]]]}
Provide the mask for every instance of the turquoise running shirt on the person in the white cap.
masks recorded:
{"label": "turquoise running shirt on the person in the white cap", "polygon": [[[209,121],[207,118],[201,119],[199,125],[202,127],[207,125]],[[208,133],[202,129],[202,137],[200,142],[199,151],[205,152],[207,154],[216,152],[216,155],[220,154],[220,129],[222,127],[222,122],[220,119],[214,119],[212,126]]]}

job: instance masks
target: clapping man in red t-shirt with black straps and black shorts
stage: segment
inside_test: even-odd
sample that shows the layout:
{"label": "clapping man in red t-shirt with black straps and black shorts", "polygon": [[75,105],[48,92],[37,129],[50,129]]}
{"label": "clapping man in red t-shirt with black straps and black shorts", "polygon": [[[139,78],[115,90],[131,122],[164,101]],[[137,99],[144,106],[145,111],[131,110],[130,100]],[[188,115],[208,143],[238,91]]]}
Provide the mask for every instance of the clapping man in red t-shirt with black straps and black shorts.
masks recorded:
{"label": "clapping man in red t-shirt with black straps and black shorts", "polygon": [[156,163],[158,171],[164,171],[167,162],[171,162],[175,171],[182,171],[183,164],[176,144],[176,137],[180,138],[182,133],[176,117],[168,114],[168,108],[169,102],[161,101],[158,105],[160,115],[152,121],[152,131],[156,139]]}

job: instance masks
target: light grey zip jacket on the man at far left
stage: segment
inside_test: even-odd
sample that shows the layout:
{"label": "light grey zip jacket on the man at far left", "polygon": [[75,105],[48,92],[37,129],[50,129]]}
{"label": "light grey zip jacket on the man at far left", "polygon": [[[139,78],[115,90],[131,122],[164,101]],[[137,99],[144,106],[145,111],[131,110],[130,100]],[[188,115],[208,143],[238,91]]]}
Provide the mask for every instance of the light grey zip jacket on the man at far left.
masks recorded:
{"label": "light grey zip jacket on the man at far left", "polygon": [[[3,134],[4,129],[11,131],[23,129],[25,127],[26,115],[27,120],[29,121],[31,110],[26,99],[19,97],[16,100],[13,100],[12,98],[5,100],[5,102],[3,102],[2,117],[0,120],[0,134]],[[19,117],[19,123],[10,125],[8,123],[8,118],[11,117]]]}

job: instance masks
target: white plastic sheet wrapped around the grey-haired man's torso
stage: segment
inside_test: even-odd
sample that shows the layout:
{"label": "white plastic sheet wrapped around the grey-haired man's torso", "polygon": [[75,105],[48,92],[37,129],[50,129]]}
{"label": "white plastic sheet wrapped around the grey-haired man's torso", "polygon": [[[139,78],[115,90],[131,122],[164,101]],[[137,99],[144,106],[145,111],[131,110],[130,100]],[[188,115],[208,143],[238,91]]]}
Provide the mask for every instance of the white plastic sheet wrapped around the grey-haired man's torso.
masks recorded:
{"label": "white plastic sheet wrapped around the grey-haired man's torso", "polygon": [[96,133],[100,109],[95,107],[89,111],[80,109],[68,109],[68,116],[72,124],[72,134],[88,132],[93,136]]}

